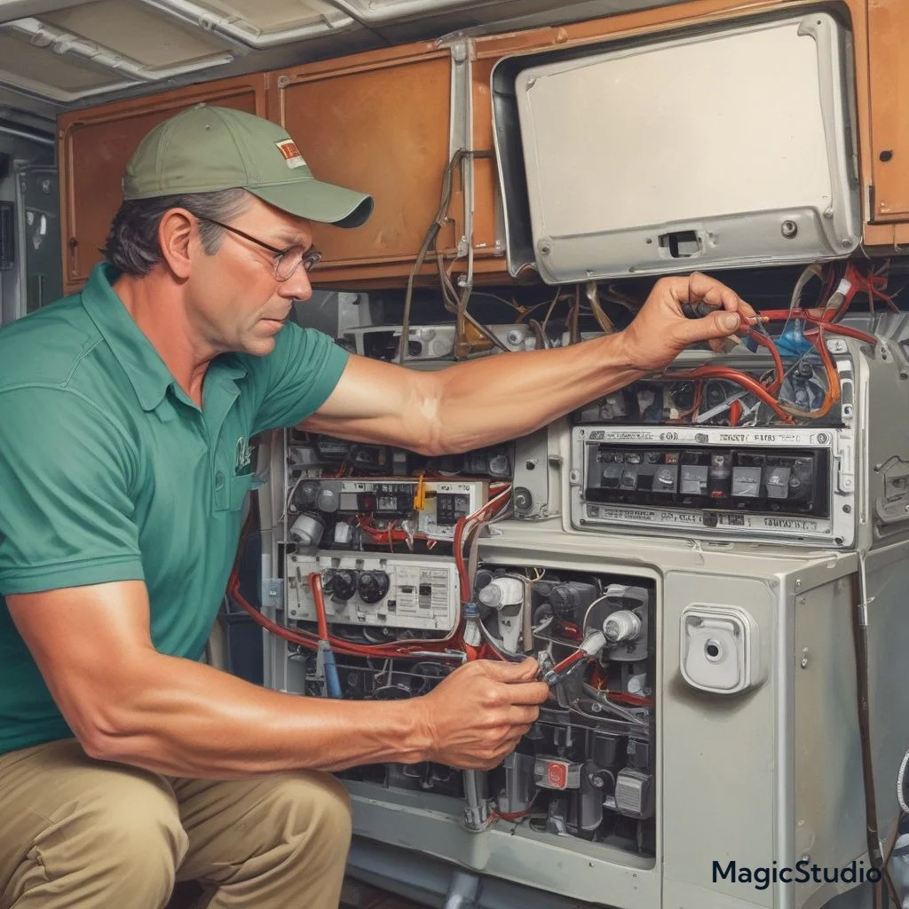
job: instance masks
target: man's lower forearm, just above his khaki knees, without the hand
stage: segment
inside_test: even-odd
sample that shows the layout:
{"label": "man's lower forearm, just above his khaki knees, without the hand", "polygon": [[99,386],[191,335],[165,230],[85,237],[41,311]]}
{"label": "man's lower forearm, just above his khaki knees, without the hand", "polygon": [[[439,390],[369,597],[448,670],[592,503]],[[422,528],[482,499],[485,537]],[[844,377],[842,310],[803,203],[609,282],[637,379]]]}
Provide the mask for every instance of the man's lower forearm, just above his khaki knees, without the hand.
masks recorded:
{"label": "man's lower forearm, just above his khaki knees, without the hand", "polygon": [[231,778],[425,759],[413,702],[278,694],[211,666],[149,654],[91,741],[95,757],[173,776]]}

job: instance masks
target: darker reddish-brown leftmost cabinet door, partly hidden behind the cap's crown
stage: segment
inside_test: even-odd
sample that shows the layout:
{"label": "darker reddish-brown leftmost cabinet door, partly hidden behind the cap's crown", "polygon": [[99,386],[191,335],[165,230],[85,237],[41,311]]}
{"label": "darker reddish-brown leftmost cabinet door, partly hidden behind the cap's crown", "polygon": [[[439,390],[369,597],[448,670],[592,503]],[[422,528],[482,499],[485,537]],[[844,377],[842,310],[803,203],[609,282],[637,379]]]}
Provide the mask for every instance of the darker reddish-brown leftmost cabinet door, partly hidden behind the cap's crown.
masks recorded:
{"label": "darker reddish-brown leftmost cabinet door, partly hidden behind the cap's crown", "polygon": [[185,107],[205,101],[265,116],[267,74],[191,85],[59,117],[60,213],[65,292],[78,290],[101,261],[123,201],[121,178],[142,137]]}

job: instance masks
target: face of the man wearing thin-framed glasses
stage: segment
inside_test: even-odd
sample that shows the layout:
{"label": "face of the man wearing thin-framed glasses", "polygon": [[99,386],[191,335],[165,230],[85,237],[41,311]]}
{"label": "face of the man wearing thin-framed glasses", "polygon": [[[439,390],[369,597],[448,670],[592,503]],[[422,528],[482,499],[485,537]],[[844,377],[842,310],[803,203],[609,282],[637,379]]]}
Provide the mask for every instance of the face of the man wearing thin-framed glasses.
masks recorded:
{"label": "face of the man wearing thin-framed glasses", "polygon": [[[226,218],[224,224],[278,250],[294,247],[290,255],[297,262],[313,242],[305,218],[286,215],[255,196],[241,215]],[[293,301],[308,300],[313,294],[303,265],[298,265],[286,281],[280,281],[275,275],[278,256],[229,230],[222,232],[214,255],[205,253],[196,236],[192,256],[187,287],[189,315],[217,350],[270,354]]]}

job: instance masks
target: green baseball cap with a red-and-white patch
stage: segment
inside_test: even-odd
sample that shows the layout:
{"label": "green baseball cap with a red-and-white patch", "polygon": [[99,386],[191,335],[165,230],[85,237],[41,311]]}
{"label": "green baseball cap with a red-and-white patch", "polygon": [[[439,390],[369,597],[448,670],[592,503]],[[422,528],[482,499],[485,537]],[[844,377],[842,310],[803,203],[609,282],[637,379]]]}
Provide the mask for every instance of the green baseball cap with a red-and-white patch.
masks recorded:
{"label": "green baseball cap with a red-and-white patch", "polygon": [[359,227],[373,198],[316,180],[295,141],[262,117],[194,105],[155,126],[126,165],[125,199],[242,187],[289,215]]}

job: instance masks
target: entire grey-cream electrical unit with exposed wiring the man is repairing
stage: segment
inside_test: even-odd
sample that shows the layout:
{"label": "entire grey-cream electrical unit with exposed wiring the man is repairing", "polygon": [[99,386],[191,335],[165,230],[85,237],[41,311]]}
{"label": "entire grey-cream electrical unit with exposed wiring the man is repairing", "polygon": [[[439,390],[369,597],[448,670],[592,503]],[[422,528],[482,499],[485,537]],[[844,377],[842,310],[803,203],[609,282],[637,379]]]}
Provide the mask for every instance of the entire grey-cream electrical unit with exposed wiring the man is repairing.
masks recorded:
{"label": "entire grey-cream electrical unit with exposed wiring the man is repairing", "polygon": [[[904,640],[894,578],[909,564],[909,430],[894,414],[909,316],[877,265],[792,278],[773,289],[789,308],[764,308],[739,343],[693,346],[513,441],[428,457],[285,433],[264,520],[285,638],[272,644],[272,687],[380,710],[431,694],[464,662],[528,656],[549,684],[491,770],[340,774],[355,830],[389,849],[390,876],[403,856],[429,854],[495,886],[518,877],[563,894],[559,909],[698,904],[714,886],[745,909],[738,884],[709,879],[707,850],[810,851],[830,867],[861,854],[864,825],[830,823],[862,817],[864,787],[856,702],[827,673],[854,658],[857,557],[877,592],[874,647],[900,665],[887,648]],[[773,295],[767,275],[753,279]],[[850,309],[856,296],[870,312]],[[640,305],[593,282],[565,297],[567,313],[558,295],[514,303],[523,316],[546,307],[524,349],[583,343],[601,318],[621,331]],[[492,341],[470,349],[456,325],[427,327],[407,336],[445,343],[409,347],[405,360],[425,361],[413,368],[459,350],[511,355]],[[398,359],[401,326],[376,328],[347,341]],[[875,723],[904,713],[909,686],[884,687]],[[819,710],[834,747],[816,735]],[[885,829],[894,815],[878,804]],[[779,886],[768,900],[820,907],[833,895],[822,889],[791,898]]]}

